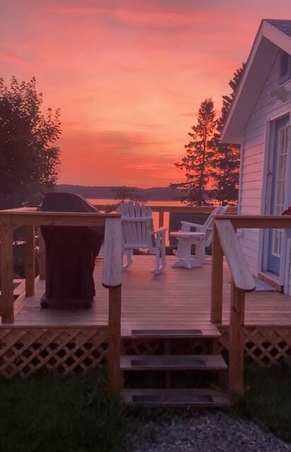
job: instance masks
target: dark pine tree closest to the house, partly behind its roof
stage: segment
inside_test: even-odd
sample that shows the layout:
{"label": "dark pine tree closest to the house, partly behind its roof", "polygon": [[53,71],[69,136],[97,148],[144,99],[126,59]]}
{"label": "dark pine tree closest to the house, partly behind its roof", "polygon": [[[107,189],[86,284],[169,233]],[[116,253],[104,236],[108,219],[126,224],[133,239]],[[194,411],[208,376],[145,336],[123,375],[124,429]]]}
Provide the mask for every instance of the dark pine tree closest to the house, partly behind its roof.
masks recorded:
{"label": "dark pine tree closest to the house, partly behind its roof", "polygon": [[229,83],[230,88],[232,88],[232,93],[222,96],[221,116],[217,121],[217,133],[213,137],[213,148],[216,149],[213,159],[213,169],[215,170],[215,184],[218,188],[217,198],[220,202],[237,201],[239,188],[239,145],[220,143],[220,135],[243,73],[244,64],[234,72],[232,80]]}

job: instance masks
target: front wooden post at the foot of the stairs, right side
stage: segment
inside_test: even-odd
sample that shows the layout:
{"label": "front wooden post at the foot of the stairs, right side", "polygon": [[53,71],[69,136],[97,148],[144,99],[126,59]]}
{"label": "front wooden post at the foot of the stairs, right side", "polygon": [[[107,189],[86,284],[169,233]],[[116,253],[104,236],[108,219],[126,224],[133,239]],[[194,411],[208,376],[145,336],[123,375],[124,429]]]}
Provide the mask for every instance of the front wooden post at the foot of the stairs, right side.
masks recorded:
{"label": "front wooden post at the foot of the stairs, right side", "polygon": [[244,392],[244,292],[232,281],[230,299],[230,360],[228,383],[234,398]]}

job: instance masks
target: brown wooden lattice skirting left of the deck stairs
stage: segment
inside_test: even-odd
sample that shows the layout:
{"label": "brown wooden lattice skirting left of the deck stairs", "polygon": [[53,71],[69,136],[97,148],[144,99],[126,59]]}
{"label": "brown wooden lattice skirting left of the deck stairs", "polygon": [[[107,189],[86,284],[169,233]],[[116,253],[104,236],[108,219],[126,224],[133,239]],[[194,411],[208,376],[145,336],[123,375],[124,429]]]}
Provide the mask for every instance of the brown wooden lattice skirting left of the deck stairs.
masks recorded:
{"label": "brown wooden lattice skirting left of the deck stairs", "polygon": [[64,374],[105,364],[107,328],[0,328],[0,375]]}

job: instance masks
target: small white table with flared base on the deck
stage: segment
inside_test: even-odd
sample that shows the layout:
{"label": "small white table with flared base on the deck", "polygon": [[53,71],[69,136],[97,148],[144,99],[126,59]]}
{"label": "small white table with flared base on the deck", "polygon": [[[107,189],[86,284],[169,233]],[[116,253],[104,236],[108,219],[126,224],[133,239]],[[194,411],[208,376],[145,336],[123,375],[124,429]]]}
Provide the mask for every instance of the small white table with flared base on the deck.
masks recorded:
{"label": "small white table with flared base on the deck", "polygon": [[204,239],[205,232],[170,232],[172,237],[176,237],[178,240],[177,246],[177,261],[174,261],[172,267],[184,267],[184,268],[194,268],[201,267],[202,264],[198,261],[193,254],[191,254],[191,246],[199,239]]}

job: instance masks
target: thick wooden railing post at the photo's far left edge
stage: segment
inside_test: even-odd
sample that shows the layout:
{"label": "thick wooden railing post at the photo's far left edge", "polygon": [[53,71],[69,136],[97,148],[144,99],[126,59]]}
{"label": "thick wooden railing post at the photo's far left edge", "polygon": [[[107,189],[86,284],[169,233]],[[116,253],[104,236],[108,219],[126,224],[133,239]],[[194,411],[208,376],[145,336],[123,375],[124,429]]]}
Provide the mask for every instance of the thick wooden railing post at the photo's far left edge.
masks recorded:
{"label": "thick wooden railing post at the photo's far left edge", "polygon": [[2,216],[0,228],[2,323],[13,323],[13,229],[10,216]]}

